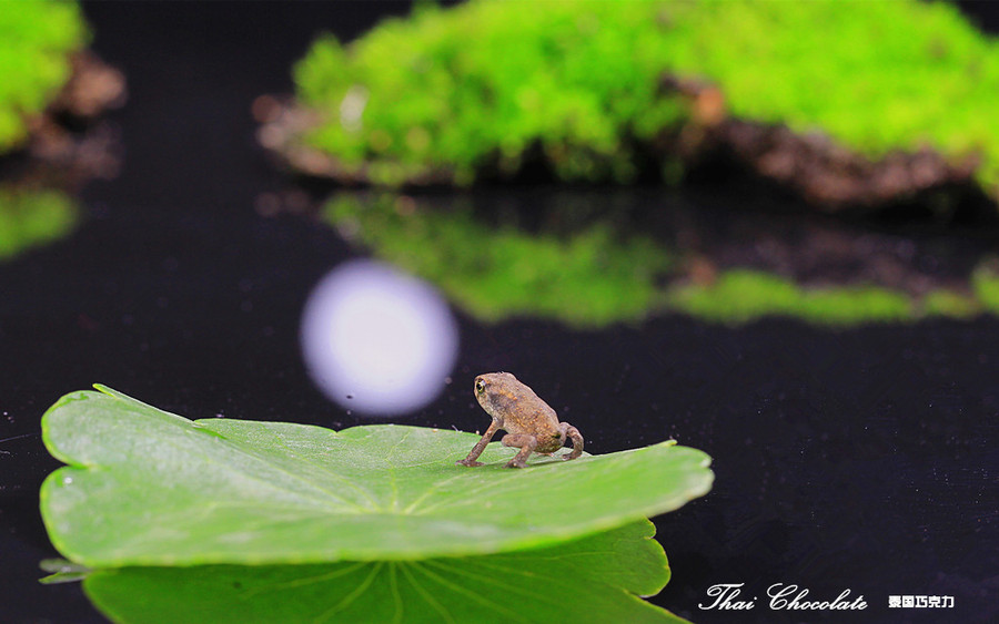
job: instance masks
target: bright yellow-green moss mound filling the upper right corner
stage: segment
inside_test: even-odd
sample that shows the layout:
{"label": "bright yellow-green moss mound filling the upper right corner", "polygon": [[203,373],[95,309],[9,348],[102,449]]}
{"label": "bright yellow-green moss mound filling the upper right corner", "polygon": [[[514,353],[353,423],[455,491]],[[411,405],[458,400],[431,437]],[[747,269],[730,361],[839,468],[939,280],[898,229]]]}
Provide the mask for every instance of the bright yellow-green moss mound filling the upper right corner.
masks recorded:
{"label": "bright yellow-green moss mound filling the upper right corner", "polygon": [[[670,69],[709,76],[736,116],[820,130],[868,156],[980,152],[999,184],[999,43],[942,2],[713,2],[678,12]],[[683,17],[679,17],[679,16]],[[751,62],[747,62],[750,60]],[[959,105],[957,103],[960,102]]]}

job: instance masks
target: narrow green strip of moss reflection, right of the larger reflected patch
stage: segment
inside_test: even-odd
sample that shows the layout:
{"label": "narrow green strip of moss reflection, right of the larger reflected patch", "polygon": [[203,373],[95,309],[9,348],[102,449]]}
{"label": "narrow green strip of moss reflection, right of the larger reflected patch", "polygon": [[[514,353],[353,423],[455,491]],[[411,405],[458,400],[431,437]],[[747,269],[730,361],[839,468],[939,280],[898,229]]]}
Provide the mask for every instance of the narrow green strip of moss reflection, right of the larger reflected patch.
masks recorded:
{"label": "narrow green strip of moss reflection, right of the larger reflected patch", "polygon": [[911,299],[874,286],[803,288],[794,282],[747,269],[720,274],[708,286],[670,288],[667,305],[707,320],[741,324],[765,316],[801,318],[829,326],[915,318]]}

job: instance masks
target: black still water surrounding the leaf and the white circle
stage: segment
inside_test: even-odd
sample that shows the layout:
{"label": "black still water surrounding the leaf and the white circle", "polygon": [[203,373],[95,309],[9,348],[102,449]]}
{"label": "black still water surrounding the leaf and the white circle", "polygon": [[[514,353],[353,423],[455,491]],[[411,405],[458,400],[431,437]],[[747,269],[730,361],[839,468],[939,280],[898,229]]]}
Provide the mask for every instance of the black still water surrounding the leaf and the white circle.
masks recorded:
{"label": "black still water surrounding the leaf and the white circle", "polygon": [[[997,11],[966,6],[997,29]],[[310,382],[297,324],[311,287],[356,252],[313,219],[262,217],[289,178],[250,104],[292,90],[321,30],[351,39],[406,3],[84,3],[93,48],[124,71],[122,174],[91,183],[70,238],[0,266],[0,621],[100,622],[56,556],[38,488],[58,462],[42,411],[95,381],[190,418],[360,422]],[[958,105],[956,103],[956,105]],[[724,181],[723,181],[724,182]],[[664,196],[675,193],[663,191]],[[995,242],[995,238],[993,238]],[[697,622],[902,622],[888,594],[953,595],[931,621],[999,617],[999,320],[830,331],[665,317],[577,333],[460,315],[455,383],[401,419],[475,430],[471,379],[512,370],[587,450],[676,437],[715,458],[704,499],[656,520],[673,567],[652,599]],[[467,382],[466,382],[467,381]],[[865,612],[700,612],[715,583],[795,583]],[[926,615],[926,614],[922,614]]]}

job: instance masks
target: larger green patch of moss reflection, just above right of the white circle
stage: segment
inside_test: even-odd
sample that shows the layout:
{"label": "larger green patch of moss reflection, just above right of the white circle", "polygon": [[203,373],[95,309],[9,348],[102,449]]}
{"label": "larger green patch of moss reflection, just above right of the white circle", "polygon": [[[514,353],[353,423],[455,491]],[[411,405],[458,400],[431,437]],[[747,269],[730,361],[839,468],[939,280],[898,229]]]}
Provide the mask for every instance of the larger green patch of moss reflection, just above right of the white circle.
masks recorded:
{"label": "larger green patch of moss reflection, just above right of the white circle", "polygon": [[487,321],[529,315],[599,327],[640,319],[658,298],[656,276],[670,264],[650,238],[619,241],[605,222],[565,236],[533,235],[476,221],[470,207],[440,209],[391,195],[341,195],[325,214],[377,257],[434,283]]}

